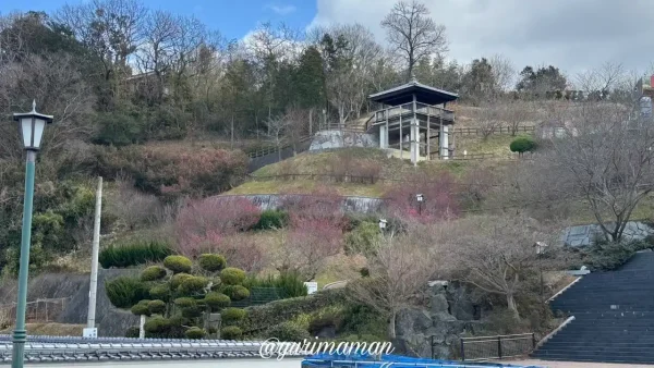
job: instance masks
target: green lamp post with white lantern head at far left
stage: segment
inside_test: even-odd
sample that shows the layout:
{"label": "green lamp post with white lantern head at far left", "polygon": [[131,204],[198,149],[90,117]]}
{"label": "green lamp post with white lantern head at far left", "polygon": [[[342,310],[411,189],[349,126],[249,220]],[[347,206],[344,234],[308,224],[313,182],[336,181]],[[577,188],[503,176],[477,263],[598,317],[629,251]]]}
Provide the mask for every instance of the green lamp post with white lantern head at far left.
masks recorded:
{"label": "green lamp post with white lantern head at far left", "polygon": [[29,271],[29,243],[32,237],[32,201],[34,197],[34,167],[36,152],[40,148],[46,124],[52,122],[52,116],[36,112],[36,101],[32,102],[32,111],[14,113],[19,122],[19,131],[23,146],[27,152],[25,164],[25,199],[23,201],[23,234],[21,237],[21,261],[19,271],[19,302],[16,305],[16,326],[13,333],[12,368],[23,368],[25,359],[25,308],[27,306],[27,272]]}

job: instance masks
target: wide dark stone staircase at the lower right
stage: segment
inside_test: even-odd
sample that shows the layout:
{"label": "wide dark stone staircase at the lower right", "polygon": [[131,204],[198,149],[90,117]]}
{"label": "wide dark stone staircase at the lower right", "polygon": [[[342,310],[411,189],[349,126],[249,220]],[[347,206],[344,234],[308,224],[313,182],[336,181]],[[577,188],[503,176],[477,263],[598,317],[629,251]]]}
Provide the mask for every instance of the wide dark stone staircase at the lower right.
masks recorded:
{"label": "wide dark stone staircase at the lower right", "polygon": [[550,302],[574,320],[533,357],[545,360],[654,364],[654,253],[621,269],[584,275]]}

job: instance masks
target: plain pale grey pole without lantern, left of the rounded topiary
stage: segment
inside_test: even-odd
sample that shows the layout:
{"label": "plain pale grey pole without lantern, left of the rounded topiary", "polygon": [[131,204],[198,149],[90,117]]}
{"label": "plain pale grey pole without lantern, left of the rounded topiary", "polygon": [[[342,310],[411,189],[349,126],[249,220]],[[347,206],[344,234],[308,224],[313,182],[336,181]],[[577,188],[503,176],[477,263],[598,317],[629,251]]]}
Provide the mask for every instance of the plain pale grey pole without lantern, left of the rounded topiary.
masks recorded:
{"label": "plain pale grey pole without lantern, left of the rounded topiary", "polygon": [[100,216],[102,213],[102,176],[98,177],[96,192],[96,210],[93,223],[93,252],[90,256],[90,284],[88,287],[88,316],[84,338],[97,338],[98,329],[95,327],[95,307],[98,294],[98,255],[100,253]]}

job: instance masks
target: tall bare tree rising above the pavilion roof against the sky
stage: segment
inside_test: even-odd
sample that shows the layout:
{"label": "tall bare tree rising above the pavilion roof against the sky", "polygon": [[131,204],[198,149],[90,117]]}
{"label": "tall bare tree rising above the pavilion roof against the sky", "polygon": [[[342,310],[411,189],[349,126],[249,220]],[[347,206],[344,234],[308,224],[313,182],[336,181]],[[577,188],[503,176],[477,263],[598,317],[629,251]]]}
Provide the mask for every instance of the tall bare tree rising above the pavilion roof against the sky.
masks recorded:
{"label": "tall bare tree rising above the pavilion roof against the sky", "polygon": [[382,26],[386,28],[388,41],[403,54],[409,77],[417,62],[447,51],[445,26],[436,24],[427,7],[416,0],[396,3]]}

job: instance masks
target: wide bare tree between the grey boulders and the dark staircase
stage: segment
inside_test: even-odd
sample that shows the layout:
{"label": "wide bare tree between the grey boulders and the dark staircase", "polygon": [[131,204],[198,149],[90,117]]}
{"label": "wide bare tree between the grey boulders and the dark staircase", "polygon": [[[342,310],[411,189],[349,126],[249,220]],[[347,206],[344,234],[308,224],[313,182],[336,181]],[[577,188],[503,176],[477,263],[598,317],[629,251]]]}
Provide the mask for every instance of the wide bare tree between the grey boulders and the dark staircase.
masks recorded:
{"label": "wide bare tree between the grey boulders and the dark staircase", "polygon": [[520,318],[516,296],[534,275],[536,242],[552,245],[553,232],[520,217],[470,217],[446,226],[451,262],[461,279],[483,291],[507,298],[507,307]]}

